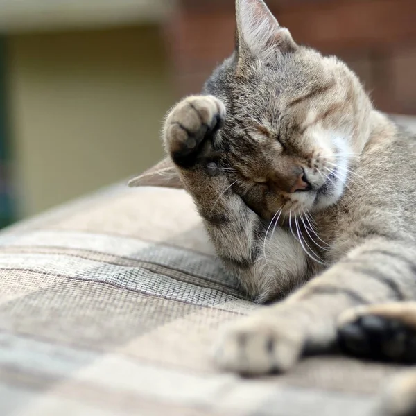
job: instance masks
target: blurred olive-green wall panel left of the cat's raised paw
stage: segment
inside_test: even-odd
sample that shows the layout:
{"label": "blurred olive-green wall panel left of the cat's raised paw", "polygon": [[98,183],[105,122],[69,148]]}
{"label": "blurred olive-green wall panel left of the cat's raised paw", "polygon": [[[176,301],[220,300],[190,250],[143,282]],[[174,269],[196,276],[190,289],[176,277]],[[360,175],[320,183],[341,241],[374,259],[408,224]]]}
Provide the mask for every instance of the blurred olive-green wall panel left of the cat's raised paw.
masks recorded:
{"label": "blurred olive-green wall panel left of the cat's raised paw", "polygon": [[21,214],[134,175],[162,156],[173,102],[157,26],[8,39]]}

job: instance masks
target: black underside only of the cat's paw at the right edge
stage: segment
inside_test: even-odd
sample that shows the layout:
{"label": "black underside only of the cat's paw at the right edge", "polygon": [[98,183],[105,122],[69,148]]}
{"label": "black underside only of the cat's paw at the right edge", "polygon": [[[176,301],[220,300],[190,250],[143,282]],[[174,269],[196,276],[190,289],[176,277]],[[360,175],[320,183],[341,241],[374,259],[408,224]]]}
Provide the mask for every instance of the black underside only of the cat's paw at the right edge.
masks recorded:
{"label": "black underside only of the cat's paw at the right edge", "polygon": [[341,349],[376,361],[416,363],[416,330],[396,319],[365,315],[338,329]]}

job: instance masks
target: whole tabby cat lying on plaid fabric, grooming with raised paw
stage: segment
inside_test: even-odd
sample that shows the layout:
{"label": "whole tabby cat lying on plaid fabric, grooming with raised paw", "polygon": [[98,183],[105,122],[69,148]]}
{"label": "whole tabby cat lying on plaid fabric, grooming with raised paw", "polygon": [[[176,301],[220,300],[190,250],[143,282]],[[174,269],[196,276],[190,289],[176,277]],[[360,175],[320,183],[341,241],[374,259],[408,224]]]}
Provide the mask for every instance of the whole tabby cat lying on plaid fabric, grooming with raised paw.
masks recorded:
{"label": "whole tabby cat lying on plaid fabric, grooming with raised paw", "polygon": [[[218,256],[257,302],[281,300],[229,327],[216,362],[281,372],[338,343],[415,363],[416,140],[263,0],[237,0],[236,27],[232,56],[164,126]],[[416,371],[383,412],[416,415]]]}

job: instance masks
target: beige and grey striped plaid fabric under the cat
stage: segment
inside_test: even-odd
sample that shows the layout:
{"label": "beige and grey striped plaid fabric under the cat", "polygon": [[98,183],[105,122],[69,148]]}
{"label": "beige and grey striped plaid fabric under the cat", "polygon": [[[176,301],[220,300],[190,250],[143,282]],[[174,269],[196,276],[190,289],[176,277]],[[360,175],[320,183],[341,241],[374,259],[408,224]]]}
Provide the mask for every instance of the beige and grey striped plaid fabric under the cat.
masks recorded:
{"label": "beige and grey striped plaid fabric under the cat", "polygon": [[396,367],[308,358],[218,372],[223,324],[256,306],[182,190],[117,186],[0,236],[0,415],[365,415]]}

